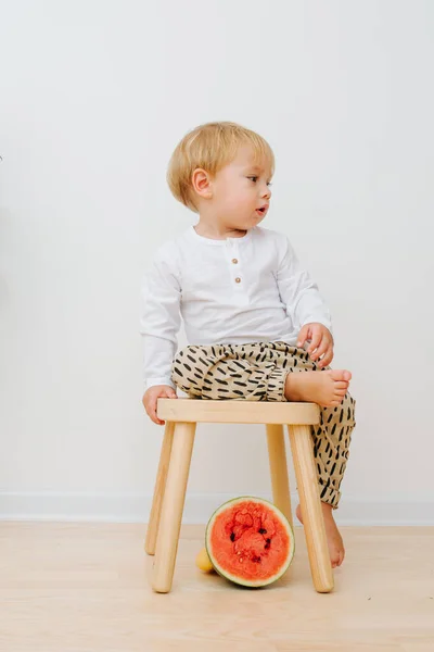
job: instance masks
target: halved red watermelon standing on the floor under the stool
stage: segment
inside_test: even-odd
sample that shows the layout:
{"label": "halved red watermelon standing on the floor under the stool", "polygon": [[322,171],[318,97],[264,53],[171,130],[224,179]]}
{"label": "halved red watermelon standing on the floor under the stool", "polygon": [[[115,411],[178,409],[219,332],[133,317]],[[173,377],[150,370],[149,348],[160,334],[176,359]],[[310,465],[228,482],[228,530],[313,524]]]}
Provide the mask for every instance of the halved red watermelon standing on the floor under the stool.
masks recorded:
{"label": "halved red watermelon standing on the floor under the stool", "polygon": [[293,529],[272,503],[242,496],[218,507],[206,526],[205,544],[219,575],[245,587],[265,587],[288,570],[295,550]]}

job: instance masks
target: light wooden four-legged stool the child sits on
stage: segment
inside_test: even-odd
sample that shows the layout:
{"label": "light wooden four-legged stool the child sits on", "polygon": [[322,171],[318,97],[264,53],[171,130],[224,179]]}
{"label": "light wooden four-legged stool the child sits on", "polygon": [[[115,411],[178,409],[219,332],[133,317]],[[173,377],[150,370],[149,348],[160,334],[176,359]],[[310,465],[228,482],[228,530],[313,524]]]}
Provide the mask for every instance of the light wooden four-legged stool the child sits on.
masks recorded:
{"label": "light wooden four-legged stool the child sits on", "polygon": [[153,590],[168,593],[171,589],[196,424],[231,423],[266,424],[273,502],[292,525],[282,424],[288,425],[314,586],[320,593],[331,591],[333,572],[310,434],[310,426],[319,423],[318,405],[158,399],[157,414],[166,427],[145,541],[148,554],[155,554]]}

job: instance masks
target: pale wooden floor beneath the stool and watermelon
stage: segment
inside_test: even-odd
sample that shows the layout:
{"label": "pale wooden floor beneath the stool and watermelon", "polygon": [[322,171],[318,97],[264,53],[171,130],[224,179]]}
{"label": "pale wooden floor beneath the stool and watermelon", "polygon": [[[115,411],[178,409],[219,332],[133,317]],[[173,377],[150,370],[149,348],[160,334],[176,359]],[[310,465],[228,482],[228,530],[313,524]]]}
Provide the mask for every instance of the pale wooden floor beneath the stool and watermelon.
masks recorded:
{"label": "pale wooden floor beneath the stool and watermelon", "polygon": [[433,652],[434,528],[342,528],[335,590],[314,591],[303,530],[267,589],[203,575],[184,526],[174,590],[149,587],[144,526],[0,523],[1,652]]}

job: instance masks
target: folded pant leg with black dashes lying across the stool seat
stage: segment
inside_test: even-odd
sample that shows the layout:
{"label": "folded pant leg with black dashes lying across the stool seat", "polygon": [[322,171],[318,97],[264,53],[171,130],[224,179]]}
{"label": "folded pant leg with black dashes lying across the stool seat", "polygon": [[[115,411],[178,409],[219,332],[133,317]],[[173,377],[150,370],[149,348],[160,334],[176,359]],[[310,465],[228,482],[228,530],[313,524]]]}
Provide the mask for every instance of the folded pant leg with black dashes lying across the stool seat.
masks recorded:
{"label": "folded pant leg with black dashes lying across the stool seat", "polygon": [[197,399],[285,401],[279,356],[263,343],[190,346],[176,355],[171,379]]}

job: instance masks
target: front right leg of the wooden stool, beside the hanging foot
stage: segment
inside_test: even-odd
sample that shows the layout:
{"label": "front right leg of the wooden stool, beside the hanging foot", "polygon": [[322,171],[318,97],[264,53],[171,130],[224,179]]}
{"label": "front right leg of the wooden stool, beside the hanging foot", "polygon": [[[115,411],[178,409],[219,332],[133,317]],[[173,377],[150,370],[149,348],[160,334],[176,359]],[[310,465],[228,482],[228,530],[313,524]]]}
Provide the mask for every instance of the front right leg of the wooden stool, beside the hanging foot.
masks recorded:
{"label": "front right leg of the wooden stool, beside the hanging foot", "polygon": [[333,570],[315,468],[310,426],[289,426],[299,502],[314,586],[319,593],[333,589]]}

